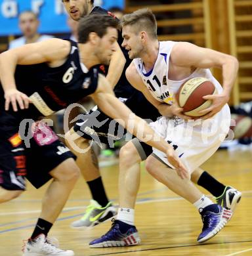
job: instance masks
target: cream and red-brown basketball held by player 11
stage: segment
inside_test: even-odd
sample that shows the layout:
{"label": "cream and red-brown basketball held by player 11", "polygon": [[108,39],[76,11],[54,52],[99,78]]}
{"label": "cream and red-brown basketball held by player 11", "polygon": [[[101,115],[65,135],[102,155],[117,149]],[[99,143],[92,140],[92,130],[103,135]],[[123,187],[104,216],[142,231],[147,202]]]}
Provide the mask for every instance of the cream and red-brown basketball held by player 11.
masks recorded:
{"label": "cream and red-brown basketball held by player 11", "polygon": [[215,85],[205,77],[194,77],[184,82],[176,94],[177,102],[186,116],[203,116],[200,110],[209,108],[212,100],[204,100],[203,96],[217,93]]}

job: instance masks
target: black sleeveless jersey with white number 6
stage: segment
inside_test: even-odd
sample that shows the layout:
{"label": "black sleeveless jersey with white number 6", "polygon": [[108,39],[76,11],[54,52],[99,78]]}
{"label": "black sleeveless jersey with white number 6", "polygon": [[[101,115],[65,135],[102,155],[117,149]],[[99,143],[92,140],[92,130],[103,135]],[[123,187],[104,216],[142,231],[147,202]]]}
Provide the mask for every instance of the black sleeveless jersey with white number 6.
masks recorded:
{"label": "black sleeveless jersey with white number 6", "polygon": [[[30,104],[28,110],[19,110],[16,113],[11,108],[11,114],[33,119],[49,116],[95,92],[98,68],[88,70],[80,62],[77,43],[70,43],[70,53],[62,66],[51,68],[47,63],[16,66],[16,87],[18,91],[28,95],[33,104]],[[2,88],[0,101],[3,110],[5,100]]]}

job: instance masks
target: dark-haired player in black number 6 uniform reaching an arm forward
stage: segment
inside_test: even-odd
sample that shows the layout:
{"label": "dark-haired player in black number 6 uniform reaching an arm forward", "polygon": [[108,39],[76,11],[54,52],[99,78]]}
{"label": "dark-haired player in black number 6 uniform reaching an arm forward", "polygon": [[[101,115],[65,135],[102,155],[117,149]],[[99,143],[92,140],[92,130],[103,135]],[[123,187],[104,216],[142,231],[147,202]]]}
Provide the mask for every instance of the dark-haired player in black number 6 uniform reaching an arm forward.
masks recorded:
{"label": "dark-haired player in black number 6 uniform reaching an arm forward", "polygon": [[[108,15],[87,16],[79,22],[78,44],[50,39],[0,55],[0,202],[22,194],[26,189],[25,177],[35,188],[53,179],[24,248],[26,256],[74,255],[73,251],[51,244],[47,234],[74,188],[79,169],[74,154],[45,123],[37,121],[40,116],[49,116],[90,95],[105,113],[118,117],[121,125],[124,122],[131,133],[140,130],[144,137],[155,137],[139,117],[132,116],[134,127],[129,123],[133,113],[114,96],[110,84],[95,67],[110,62],[116,50],[117,27],[117,20]],[[32,124],[30,129],[28,123]],[[167,158],[186,175],[173,148],[158,135],[156,139],[150,144],[167,152]]]}

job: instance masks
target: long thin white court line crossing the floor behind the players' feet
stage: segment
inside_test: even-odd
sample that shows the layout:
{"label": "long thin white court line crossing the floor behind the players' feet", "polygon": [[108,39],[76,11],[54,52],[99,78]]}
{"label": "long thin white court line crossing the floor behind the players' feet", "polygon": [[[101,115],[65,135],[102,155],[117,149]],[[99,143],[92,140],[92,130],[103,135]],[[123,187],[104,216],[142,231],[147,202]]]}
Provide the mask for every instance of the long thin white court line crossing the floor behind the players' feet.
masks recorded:
{"label": "long thin white court line crossing the floor behind the players' feet", "polygon": [[[252,190],[247,190],[247,191],[242,191],[242,194],[250,194],[252,193]],[[137,202],[137,204],[142,204],[142,203],[158,203],[158,202],[167,202],[167,201],[176,201],[176,200],[183,200],[184,198],[180,197],[175,197],[175,198],[157,198],[157,199],[152,199],[152,200],[146,200],[146,201],[140,201]],[[144,198],[143,198],[144,200]],[[75,209],[85,209],[86,206],[75,206],[75,207],[66,207],[63,209],[63,211],[68,211],[68,210],[75,210]],[[27,213],[40,213],[41,210],[33,210],[33,211],[10,211],[9,213],[0,213],[0,216],[5,216],[5,215],[17,215],[17,214],[27,214]]]}

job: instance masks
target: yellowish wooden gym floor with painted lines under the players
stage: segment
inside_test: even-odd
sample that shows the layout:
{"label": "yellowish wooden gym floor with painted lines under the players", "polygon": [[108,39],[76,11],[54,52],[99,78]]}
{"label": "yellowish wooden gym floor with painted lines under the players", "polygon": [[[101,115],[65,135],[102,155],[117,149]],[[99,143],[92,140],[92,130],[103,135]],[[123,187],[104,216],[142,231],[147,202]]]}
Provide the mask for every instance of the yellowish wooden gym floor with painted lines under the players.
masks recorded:
{"label": "yellowish wooden gym floor with painted lines under the players", "polygon": [[[232,154],[218,151],[203,168],[224,184],[243,192],[234,217],[215,238],[199,245],[196,242],[202,224],[200,215],[190,203],[155,181],[142,168],[135,223],[142,244],[130,247],[89,248],[89,242],[110,228],[110,223],[92,230],[72,230],[72,221],[81,217],[89,203],[89,191],[79,179],[74,191],[53,226],[50,234],[60,241],[60,247],[73,249],[75,255],[252,255],[252,152]],[[118,167],[102,169],[108,196],[117,204]],[[35,190],[28,186],[20,198],[0,206],[0,255],[22,255],[22,240],[27,239],[39,215],[45,187]],[[208,194],[204,191],[205,194]]]}

